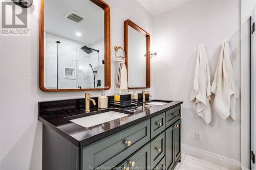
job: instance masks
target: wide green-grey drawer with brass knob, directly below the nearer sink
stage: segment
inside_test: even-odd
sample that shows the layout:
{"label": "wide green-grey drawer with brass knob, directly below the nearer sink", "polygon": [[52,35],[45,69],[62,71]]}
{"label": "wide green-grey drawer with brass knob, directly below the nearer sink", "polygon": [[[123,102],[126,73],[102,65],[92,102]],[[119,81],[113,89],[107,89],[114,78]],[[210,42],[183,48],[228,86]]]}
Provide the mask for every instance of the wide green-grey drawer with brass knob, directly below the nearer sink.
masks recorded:
{"label": "wide green-grey drawer with brass knob, directly below the nearer sink", "polygon": [[149,140],[150,119],[83,147],[82,169],[116,166]]}

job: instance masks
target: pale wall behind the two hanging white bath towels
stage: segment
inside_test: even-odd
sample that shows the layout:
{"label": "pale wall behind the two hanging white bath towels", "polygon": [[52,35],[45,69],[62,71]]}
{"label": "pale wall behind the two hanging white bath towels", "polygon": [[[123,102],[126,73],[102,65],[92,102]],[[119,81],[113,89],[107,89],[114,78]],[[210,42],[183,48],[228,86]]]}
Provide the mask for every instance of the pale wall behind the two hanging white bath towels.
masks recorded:
{"label": "pale wall behind the two hanging white bath towels", "polygon": [[[158,55],[154,59],[154,93],[156,98],[184,102],[183,144],[239,164],[240,98],[235,122],[230,118],[224,120],[213,112],[209,125],[196,115],[189,103],[199,45],[206,46],[213,81],[223,40],[230,44],[234,74],[240,88],[239,1],[193,1],[155,16],[154,43]],[[195,139],[196,132],[202,132],[201,141]]]}

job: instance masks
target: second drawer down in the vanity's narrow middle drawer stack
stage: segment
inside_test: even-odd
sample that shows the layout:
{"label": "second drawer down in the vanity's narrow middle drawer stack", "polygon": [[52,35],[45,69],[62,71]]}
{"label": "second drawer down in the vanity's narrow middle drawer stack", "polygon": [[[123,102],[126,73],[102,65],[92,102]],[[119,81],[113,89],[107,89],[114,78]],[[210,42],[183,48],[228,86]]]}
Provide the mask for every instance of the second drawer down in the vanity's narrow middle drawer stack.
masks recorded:
{"label": "second drawer down in the vanity's narrow middle drawer stack", "polygon": [[163,158],[165,153],[164,132],[151,142],[151,166],[154,167]]}

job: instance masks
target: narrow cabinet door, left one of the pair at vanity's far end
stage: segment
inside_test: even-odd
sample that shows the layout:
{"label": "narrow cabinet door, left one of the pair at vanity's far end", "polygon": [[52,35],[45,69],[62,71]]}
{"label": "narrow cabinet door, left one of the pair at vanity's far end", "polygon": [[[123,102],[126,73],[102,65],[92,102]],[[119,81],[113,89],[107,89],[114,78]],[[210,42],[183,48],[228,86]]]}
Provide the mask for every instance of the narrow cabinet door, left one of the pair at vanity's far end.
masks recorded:
{"label": "narrow cabinet door, left one of the pair at vanity's far end", "polygon": [[165,131],[165,167],[167,170],[174,166],[174,134],[175,129],[170,126]]}

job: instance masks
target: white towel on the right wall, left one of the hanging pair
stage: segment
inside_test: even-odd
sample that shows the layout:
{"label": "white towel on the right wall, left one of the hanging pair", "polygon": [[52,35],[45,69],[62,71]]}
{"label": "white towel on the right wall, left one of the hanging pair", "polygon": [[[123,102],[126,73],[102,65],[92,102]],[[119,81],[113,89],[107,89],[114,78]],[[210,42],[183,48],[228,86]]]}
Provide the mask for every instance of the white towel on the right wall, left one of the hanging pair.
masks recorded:
{"label": "white towel on the right wall, left one of the hanging pair", "polygon": [[209,124],[211,121],[210,100],[210,71],[208,59],[204,45],[200,45],[190,103],[195,112],[204,119],[206,124]]}

